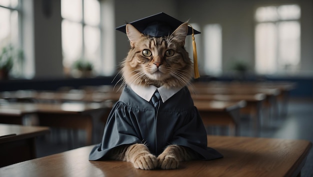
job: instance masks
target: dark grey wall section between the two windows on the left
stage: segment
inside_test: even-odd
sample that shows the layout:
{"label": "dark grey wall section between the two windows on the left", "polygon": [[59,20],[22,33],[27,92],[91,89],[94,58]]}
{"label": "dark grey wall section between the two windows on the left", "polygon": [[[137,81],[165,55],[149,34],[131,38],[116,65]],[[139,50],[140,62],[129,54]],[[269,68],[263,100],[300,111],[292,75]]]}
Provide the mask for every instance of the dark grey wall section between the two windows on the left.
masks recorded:
{"label": "dark grey wall section between the two windows on the left", "polygon": [[43,2],[33,1],[34,77],[62,77],[60,0],[45,0],[47,9]]}

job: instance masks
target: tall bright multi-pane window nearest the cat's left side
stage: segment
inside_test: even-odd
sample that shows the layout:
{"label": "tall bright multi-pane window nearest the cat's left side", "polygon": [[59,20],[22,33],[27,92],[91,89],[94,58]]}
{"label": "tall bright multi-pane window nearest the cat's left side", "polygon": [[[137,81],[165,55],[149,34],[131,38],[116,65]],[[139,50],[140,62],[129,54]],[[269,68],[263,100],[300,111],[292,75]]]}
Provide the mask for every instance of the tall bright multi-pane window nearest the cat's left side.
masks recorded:
{"label": "tall bright multi-pane window nearest the cat's left side", "polygon": [[98,0],[61,0],[63,66],[78,59],[91,61],[101,73],[101,25]]}

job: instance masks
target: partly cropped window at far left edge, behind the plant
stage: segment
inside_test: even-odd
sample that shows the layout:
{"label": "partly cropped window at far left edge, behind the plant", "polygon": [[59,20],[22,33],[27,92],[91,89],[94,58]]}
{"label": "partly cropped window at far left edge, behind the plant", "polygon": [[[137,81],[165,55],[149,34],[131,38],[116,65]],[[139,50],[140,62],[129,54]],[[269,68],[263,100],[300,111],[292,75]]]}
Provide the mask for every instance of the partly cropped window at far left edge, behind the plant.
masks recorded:
{"label": "partly cropped window at far left edge, behind the plant", "polygon": [[[12,46],[14,51],[20,48],[19,19],[18,0],[0,0],[0,53],[3,47]],[[3,58],[0,62],[4,62],[4,60]],[[20,64],[13,64],[10,71],[11,76],[21,75]]]}

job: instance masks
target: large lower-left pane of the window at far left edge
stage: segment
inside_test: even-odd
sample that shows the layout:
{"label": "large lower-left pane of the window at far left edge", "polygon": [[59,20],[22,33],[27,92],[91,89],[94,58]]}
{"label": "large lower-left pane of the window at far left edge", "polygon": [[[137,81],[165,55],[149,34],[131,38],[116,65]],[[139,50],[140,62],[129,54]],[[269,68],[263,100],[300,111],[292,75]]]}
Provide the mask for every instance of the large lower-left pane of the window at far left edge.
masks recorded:
{"label": "large lower-left pane of the window at far left edge", "polygon": [[10,10],[0,7],[0,45],[10,42]]}

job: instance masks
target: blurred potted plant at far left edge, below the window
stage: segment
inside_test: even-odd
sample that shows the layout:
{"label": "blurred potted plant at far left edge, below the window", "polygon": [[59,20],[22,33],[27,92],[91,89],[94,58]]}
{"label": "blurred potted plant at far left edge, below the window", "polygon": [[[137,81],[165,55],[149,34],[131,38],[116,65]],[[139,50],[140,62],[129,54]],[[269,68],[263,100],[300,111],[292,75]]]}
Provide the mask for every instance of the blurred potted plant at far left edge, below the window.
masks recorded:
{"label": "blurred potted plant at far left edge, below the window", "polygon": [[7,79],[14,64],[22,64],[23,51],[15,49],[11,44],[2,47],[0,51],[0,79]]}

